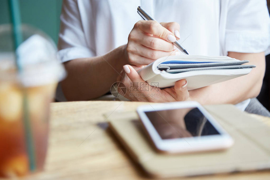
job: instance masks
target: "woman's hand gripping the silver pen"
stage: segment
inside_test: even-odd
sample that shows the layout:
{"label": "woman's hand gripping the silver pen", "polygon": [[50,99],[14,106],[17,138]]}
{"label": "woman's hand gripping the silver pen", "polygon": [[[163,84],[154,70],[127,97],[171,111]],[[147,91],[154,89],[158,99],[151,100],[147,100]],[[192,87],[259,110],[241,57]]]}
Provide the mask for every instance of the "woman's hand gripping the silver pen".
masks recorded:
{"label": "woman's hand gripping the silver pen", "polygon": [[129,64],[148,65],[160,57],[180,54],[172,44],[180,39],[180,25],[176,22],[160,24],[141,20],[134,25],[126,48]]}

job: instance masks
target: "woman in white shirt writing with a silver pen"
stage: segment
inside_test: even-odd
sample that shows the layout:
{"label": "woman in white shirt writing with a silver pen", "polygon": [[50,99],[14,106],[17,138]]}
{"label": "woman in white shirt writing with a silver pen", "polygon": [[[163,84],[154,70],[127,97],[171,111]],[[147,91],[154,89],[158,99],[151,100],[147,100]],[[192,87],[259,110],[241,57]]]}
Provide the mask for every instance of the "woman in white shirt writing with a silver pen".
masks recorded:
{"label": "woman in white shirt writing with a silver pen", "polygon": [[[140,20],[139,5],[158,22],[170,23],[160,26]],[[265,0],[65,0],[58,43],[68,71],[62,91],[70,101],[91,100],[107,93],[117,79],[127,87],[144,82],[136,70],[159,57],[179,54],[171,42],[180,39],[190,54],[249,60],[256,68],[248,75],[197,90],[187,91],[188,82],[183,79],[172,88],[159,90],[158,97],[130,97],[132,92],[125,97],[132,101],[232,103],[241,110],[255,104],[262,109],[250,98],[262,86],[269,25]],[[123,68],[125,73],[120,73]]]}

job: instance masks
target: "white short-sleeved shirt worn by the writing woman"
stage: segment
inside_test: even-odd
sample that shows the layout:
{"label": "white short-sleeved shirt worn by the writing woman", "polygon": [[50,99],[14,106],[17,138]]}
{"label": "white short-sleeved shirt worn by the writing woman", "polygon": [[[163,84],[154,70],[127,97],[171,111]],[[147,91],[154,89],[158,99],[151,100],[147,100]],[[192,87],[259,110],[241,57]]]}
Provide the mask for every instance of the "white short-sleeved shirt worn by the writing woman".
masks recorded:
{"label": "white short-sleeved shirt worn by the writing woman", "polygon": [[[141,6],[158,22],[180,24],[193,55],[270,53],[266,0],[64,0],[58,55],[62,62],[102,56],[127,44]],[[249,101],[240,105],[244,110]]]}

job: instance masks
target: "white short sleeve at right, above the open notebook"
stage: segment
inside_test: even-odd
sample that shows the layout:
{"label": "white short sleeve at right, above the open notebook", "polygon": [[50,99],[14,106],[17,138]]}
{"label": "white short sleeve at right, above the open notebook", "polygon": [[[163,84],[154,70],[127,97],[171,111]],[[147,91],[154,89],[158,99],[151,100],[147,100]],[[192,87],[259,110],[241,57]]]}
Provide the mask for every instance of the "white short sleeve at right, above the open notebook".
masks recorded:
{"label": "white short sleeve at right, above the open notebook", "polygon": [[265,0],[230,0],[226,52],[270,53],[270,19]]}

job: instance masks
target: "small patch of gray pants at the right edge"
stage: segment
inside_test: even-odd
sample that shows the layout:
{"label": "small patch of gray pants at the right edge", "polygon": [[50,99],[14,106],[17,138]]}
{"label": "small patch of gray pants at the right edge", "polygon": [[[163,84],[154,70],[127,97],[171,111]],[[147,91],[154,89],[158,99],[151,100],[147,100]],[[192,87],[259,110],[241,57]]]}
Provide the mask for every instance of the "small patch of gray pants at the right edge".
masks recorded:
{"label": "small patch of gray pants at the right edge", "polygon": [[270,112],[264,106],[262,106],[262,104],[257,100],[257,98],[251,99],[245,111],[252,114],[270,117]]}

